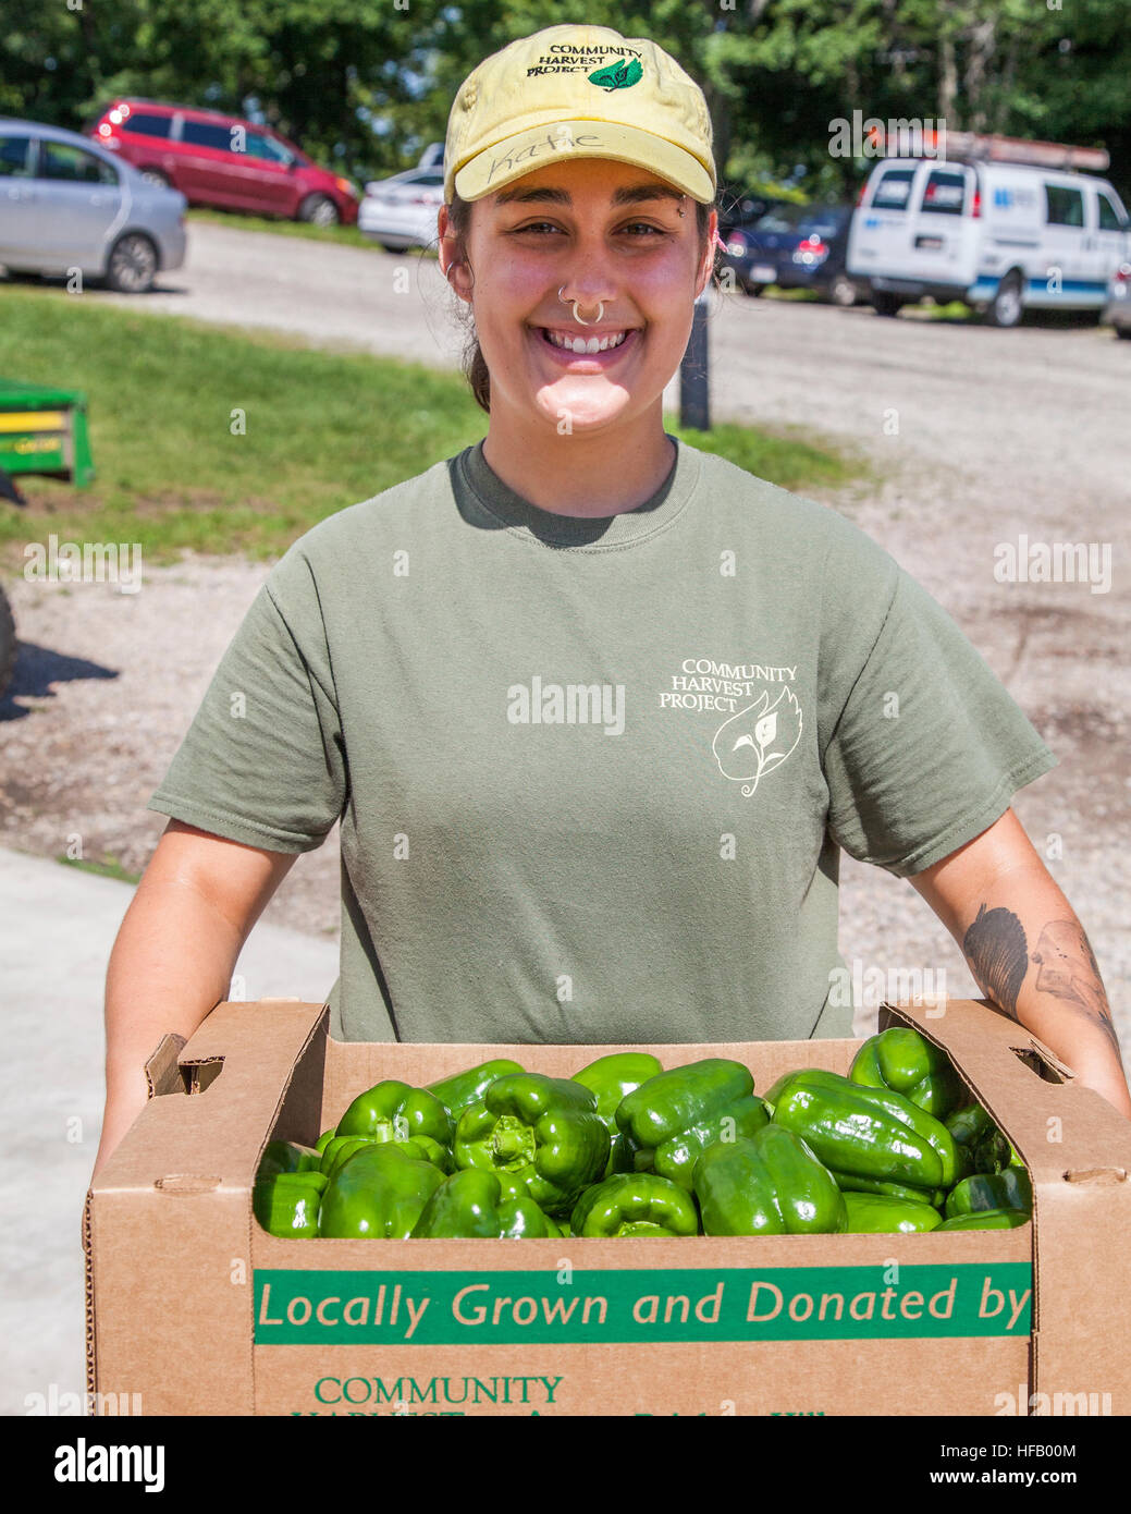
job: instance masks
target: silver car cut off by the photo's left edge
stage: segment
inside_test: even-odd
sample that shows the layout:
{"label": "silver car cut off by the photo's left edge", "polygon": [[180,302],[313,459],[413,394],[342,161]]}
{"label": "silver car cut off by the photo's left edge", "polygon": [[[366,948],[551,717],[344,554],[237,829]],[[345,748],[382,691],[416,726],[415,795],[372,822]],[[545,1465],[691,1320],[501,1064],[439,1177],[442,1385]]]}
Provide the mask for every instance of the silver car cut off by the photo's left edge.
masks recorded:
{"label": "silver car cut off by the photo's left edge", "polygon": [[0,263],[141,294],[185,262],[185,195],[77,132],[0,118]]}

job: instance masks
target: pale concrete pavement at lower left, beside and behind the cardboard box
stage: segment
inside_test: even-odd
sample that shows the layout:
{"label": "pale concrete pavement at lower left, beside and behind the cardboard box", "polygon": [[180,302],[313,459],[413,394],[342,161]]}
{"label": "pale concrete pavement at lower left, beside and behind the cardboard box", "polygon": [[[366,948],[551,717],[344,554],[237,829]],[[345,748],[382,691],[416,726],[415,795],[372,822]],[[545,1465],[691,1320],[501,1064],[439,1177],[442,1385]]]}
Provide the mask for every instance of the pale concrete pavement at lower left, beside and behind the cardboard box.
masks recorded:
{"label": "pale concrete pavement at lower left, beside and behind the cardboard box", "polygon": [[[0,1414],[27,1413],[29,1394],[85,1391],[82,1208],[101,1131],[106,964],[132,896],[112,878],[0,849]],[[236,974],[245,998],[318,999],[338,948],[260,924]]]}

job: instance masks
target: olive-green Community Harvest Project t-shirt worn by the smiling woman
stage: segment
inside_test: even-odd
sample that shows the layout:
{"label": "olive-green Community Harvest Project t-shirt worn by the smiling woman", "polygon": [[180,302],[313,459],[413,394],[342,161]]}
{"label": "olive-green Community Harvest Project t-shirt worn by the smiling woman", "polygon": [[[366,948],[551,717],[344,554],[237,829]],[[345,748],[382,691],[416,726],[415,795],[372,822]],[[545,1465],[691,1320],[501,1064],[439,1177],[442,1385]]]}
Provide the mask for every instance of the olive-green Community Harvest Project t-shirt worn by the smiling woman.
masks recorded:
{"label": "olive-green Community Harvest Project t-shirt worn by the smiling woman", "polygon": [[289,548],[148,808],[341,819],[338,1039],[805,1039],[851,1036],[839,848],[919,872],[1055,762],[834,510],[680,442],[584,521],[480,444]]}

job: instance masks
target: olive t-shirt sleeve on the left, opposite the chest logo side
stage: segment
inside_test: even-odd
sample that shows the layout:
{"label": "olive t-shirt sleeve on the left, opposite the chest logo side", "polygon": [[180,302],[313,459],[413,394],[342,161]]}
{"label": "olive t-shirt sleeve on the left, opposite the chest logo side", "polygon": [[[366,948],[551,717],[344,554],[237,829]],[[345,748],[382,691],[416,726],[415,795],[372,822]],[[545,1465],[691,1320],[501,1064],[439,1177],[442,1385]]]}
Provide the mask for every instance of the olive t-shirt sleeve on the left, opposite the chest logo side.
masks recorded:
{"label": "olive t-shirt sleeve on the left, opposite the chest logo side", "polygon": [[316,584],[294,548],[224,653],[147,808],[247,846],[313,851],[347,801]]}

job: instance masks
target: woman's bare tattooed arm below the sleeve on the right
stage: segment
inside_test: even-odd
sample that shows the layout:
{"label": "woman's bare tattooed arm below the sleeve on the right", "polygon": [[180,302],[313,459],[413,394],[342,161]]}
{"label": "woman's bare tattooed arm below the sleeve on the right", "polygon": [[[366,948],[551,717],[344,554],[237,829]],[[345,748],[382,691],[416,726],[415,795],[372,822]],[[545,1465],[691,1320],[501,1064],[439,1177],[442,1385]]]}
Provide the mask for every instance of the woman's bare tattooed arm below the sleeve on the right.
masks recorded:
{"label": "woman's bare tattooed arm below the sleeve on the right", "polygon": [[1131,1119],[1092,945],[1013,810],[910,883],[961,946],[986,998]]}

